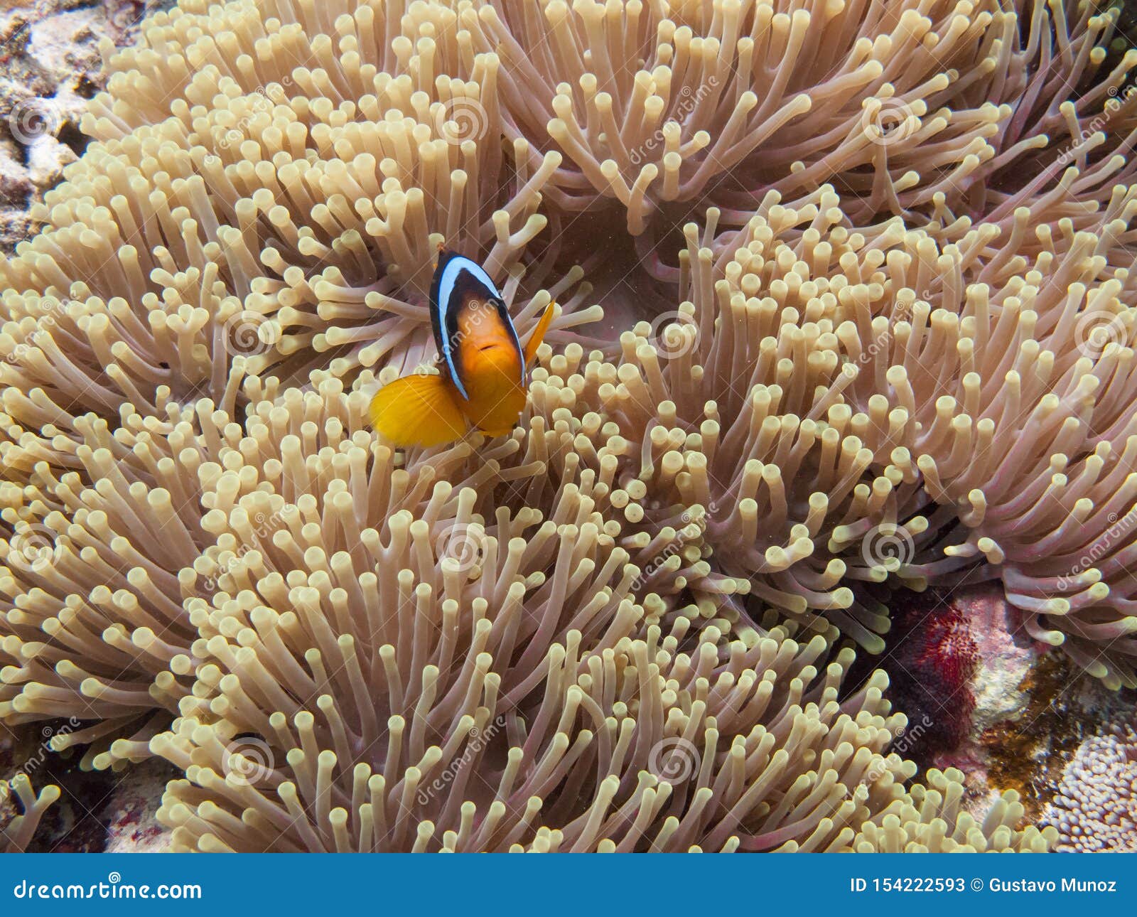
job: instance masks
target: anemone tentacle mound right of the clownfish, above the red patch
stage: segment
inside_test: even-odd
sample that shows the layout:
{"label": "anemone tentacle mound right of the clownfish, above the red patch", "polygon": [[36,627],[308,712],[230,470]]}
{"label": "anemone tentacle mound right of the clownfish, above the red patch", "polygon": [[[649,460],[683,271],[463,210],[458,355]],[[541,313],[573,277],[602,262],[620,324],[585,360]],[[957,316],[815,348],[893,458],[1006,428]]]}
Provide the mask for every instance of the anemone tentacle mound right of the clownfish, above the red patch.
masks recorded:
{"label": "anemone tentacle mound right of the clownfish, above the red patch", "polygon": [[941,246],[898,218],[854,231],[839,204],[829,188],[800,208],[771,193],[716,243],[717,212],[689,224],[686,301],[625,332],[619,361],[539,381],[533,410],[598,419],[586,460],[617,461],[625,519],[696,545],[637,559],[672,586],[749,595],[755,620],[820,612],[879,652],[873,584],[978,565],[1031,635],[1135,684],[1130,540],[1113,523],[1137,481],[1137,312],[1128,272],[1094,255],[1112,214],[1104,241],[1078,233],[1004,279],[993,228]]}

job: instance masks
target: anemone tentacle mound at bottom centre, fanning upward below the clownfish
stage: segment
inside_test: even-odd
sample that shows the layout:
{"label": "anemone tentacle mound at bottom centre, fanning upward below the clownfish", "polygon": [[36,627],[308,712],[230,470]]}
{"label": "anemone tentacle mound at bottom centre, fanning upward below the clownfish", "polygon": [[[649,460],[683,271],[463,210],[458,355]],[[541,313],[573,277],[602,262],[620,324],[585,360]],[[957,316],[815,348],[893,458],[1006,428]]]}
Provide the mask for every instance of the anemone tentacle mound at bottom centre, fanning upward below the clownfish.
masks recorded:
{"label": "anemone tentacle mound at bottom centre, fanning upward below the clownfish", "polygon": [[853,654],[822,667],[820,635],[640,604],[576,488],[547,517],[448,481],[376,513],[387,476],[338,464],[284,497],[238,462],[207,497],[202,664],[151,741],[186,775],[159,811],[179,849],[830,849],[903,793],[886,679],[839,702]]}

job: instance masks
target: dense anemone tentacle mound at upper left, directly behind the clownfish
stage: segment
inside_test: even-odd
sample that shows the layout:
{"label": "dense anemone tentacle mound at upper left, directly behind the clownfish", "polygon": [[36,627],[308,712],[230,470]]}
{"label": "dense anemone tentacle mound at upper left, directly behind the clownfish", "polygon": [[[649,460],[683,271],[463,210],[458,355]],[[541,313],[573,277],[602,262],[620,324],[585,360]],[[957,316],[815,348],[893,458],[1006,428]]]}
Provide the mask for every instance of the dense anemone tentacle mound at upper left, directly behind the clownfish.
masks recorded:
{"label": "dense anemone tentacle mound at upper left, directly behind the clownfish", "polygon": [[[503,148],[497,59],[464,53],[447,5],[400,6],[325,5],[290,22],[290,3],[184,3],[110,57],[107,93],[83,119],[100,142],[68,176],[88,206],[57,216],[67,205],[49,196],[43,215],[73,233],[101,220],[92,245],[105,255],[91,255],[113,265],[116,289],[127,246],[135,308],[146,279],[158,281],[147,311],[174,325],[158,349],[180,363],[151,374],[204,375],[218,399],[223,344],[250,372],[299,380],[316,366],[428,363],[423,299],[443,240],[479,258],[508,300],[518,284],[530,291],[513,304],[522,327],[579,279],[550,272],[555,248],[520,263],[548,223],[538,210],[559,154],[533,159],[522,139]],[[186,290],[172,282],[182,274]],[[596,317],[572,317],[576,304],[562,303],[555,329]],[[155,362],[144,337],[127,344]]]}

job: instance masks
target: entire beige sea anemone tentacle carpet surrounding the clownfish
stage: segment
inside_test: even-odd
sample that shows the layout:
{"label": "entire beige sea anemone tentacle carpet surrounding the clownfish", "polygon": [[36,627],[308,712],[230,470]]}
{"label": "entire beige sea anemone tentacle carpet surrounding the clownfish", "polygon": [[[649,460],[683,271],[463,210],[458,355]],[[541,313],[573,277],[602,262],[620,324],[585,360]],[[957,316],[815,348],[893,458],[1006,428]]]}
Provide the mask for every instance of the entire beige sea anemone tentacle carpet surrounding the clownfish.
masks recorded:
{"label": "entire beige sea anemone tentacle carpet surrounding the clownfish", "polygon": [[[1046,849],[845,676],[968,576],[1137,684],[1114,24],[153,15],[0,266],[0,719],[176,765],[177,849]],[[393,452],[442,241],[557,317],[511,436]],[[53,793],[15,788],[20,848]]]}

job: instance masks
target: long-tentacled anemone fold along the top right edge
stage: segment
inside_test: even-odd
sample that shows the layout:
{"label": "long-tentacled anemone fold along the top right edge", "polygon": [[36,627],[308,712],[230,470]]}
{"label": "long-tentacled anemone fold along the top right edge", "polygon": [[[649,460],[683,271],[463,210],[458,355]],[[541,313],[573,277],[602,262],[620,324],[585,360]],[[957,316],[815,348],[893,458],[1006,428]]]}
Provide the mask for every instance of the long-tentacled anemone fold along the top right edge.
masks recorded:
{"label": "long-tentacled anemone fold along the top right edge", "polygon": [[[672,201],[709,200],[745,223],[770,190],[796,201],[823,182],[840,188],[858,221],[891,212],[951,222],[1027,204],[1069,162],[1087,173],[1087,189],[1131,168],[1106,154],[1128,149],[1117,138],[1134,126],[1137,104],[1117,93],[1137,53],[1068,99],[1103,67],[1095,46],[1109,43],[1112,9],[1041,0],[458,7],[468,41],[501,61],[505,137],[529,141],[534,162],[540,150],[564,156],[549,200],[567,212],[619,201],[637,234]],[[1097,122],[1088,131],[1081,121],[1107,99],[1117,133]],[[1022,181],[1035,173],[1040,182]]]}

